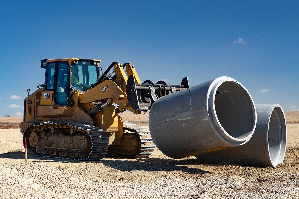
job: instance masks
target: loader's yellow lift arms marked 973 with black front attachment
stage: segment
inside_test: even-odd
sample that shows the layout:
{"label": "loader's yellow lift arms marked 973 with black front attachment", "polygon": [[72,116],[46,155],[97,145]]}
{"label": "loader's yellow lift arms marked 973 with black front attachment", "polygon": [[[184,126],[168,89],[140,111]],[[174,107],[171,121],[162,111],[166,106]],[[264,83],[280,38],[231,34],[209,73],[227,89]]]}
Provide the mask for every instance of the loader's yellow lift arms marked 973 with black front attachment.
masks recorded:
{"label": "loader's yellow lift arms marked 973 with black front attachment", "polygon": [[[107,75],[112,68],[112,72]],[[100,80],[90,90],[80,95],[79,102],[89,104],[104,100],[108,104],[117,104],[121,112],[127,109],[134,114],[139,114],[141,111],[150,110],[151,105],[159,97],[188,87],[187,77],[183,78],[180,85],[167,84],[165,81],[158,81],[154,84],[150,80],[141,84],[134,65],[131,63],[121,65],[119,62],[112,62]],[[89,106],[83,107],[92,106],[89,104]]]}

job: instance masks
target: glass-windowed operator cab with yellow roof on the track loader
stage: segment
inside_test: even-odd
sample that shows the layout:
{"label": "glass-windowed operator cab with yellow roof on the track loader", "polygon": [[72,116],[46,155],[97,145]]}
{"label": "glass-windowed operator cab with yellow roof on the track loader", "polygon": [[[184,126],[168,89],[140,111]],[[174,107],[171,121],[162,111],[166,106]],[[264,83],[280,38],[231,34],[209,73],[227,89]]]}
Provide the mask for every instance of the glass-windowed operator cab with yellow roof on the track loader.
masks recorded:
{"label": "glass-windowed operator cab with yellow roof on the track loader", "polygon": [[42,60],[41,67],[46,69],[44,90],[53,91],[55,105],[66,105],[68,90],[84,92],[100,79],[99,64],[100,60],[88,59]]}

